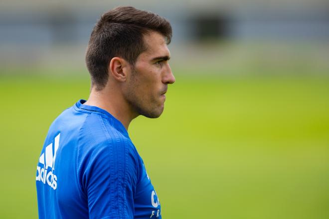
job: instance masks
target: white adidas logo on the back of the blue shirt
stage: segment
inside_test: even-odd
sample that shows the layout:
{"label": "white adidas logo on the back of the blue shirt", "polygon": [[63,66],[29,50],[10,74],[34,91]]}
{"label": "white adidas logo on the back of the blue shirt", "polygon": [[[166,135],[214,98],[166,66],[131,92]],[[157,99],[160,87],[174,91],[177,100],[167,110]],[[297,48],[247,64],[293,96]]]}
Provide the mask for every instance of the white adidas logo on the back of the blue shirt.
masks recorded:
{"label": "white adidas logo on the back of the blue shirt", "polygon": [[[55,159],[56,159],[56,152],[59,146],[59,136],[60,133],[55,137],[54,142],[54,153],[52,150],[52,143],[50,143],[46,149],[45,152],[41,154],[39,158],[39,163],[43,164],[43,167],[40,167],[39,165],[36,167],[36,181],[41,181],[43,184],[47,184],[53,188],[54,190],[57,188],[57,176],[53,174],[53,171],[55,169]],[[48,172],[48,167],[51,168],[51,171]],[[48,173],[47,173],[48,172]]]}

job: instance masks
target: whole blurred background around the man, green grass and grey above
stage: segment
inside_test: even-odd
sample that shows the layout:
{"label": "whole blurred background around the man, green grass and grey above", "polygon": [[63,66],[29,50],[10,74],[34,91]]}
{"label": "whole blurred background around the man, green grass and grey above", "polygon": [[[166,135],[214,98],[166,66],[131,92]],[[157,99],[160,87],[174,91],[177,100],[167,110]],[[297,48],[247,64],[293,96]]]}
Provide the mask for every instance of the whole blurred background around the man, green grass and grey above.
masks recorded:
{"label": "whole blurred background around the man, green grass and grey above", "polygon": [[[249,10],[225,0],[151,2],[135,6],[172,21],[176,82],[163,115],[138,117],[129,134],[163,218],[329,218],[329,18],[321,12],[329,4],[280,2],[262,26],[271,14],[262,1]],[[83,56],[93,23],[127,4],[74,3],[5,0],[0,9],[1,219],[37,218],[34,177],[48,127],[89,96]],[[65,35],[75,22],[76,35]]]}

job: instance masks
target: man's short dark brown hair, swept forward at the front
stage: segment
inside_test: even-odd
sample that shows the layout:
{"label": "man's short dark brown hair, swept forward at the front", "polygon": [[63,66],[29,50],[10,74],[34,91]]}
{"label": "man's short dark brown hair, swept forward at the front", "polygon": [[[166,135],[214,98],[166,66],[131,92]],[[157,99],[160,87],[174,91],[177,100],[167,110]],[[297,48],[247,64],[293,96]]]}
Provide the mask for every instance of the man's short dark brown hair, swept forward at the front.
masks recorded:
{"label": "man's short dark brown hair, swept forward at the front", "polygon": [[135,65],[147,48],[144,34],[156,31],[167,44],[171,41],[170,23],[153,12],[131,6],[117,7],[104,13],[97,21],[86,51],[86,65],[91,85],[102,90],[108,80],[108,65],[113,57],[121,57]]}

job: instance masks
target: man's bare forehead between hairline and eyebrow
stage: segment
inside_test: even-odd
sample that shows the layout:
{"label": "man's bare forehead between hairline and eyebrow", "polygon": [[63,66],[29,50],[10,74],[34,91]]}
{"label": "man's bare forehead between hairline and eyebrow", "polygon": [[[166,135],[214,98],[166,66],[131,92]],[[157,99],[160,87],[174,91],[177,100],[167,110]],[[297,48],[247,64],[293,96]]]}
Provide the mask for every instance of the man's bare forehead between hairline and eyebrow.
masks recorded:
{"label": "man's bare forehead between hairline and eyebrow", "polygon": [[158,32],[150,32],[144,35],[147,50],[139,56],[141,59],[152,59],[153,57],[170,56],[165,37]]}

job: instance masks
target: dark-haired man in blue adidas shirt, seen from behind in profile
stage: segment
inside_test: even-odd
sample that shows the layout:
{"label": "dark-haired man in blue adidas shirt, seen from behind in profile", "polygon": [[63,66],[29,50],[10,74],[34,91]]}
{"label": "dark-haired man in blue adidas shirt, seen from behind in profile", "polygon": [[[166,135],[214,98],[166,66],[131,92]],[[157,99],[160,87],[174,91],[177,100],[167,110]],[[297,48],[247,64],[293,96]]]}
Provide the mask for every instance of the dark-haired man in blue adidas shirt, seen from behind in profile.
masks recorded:
{"label": "dark-haired man in blue adidas shirt, seen from behind in profile", "polygon": [[96,23],[86,52],[88,101],[51,124],[36,173],[40,219],[161,219],[160,202],[128,135],[138,115],[159,117],[167,85],[169,22],[118,7]]}

